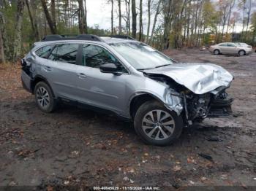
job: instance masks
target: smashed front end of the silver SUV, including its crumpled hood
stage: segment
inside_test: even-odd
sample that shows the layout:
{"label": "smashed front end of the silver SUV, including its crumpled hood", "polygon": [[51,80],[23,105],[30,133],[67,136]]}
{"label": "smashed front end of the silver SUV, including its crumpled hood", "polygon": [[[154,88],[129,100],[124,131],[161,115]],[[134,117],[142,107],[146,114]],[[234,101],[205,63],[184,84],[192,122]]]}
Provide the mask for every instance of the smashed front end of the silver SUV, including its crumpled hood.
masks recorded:
{"label": "smashed front end of the silver SUV, including its crumpled hood", "polygon": [[[196,75],[192,67],[197,72],[204,70],[204,74]],[[187,125],[201,122],[206,117],[227,117],[232,114],[233,98],[230,98],[225,90],[230,86],[233,76],[225,69],[219,69],[220,66],[209,67],[200,64],[192,67],[188,66],[188,69],[184,69],[184,66],[175,66],[175,69],[172,69],[170,66],[169,70],[168,68],[165,68],[165,71],[148,70],[144,74],[169,86],[169,92],[165,96],[166,106],[178,115],[182,114]],[[208,68],[213,69],[212,74],[206,71]],[[187,74],[181,74],[182,71],[187,71]],[[186,77],[187,82],[184,78],[183,80],[178,78],[178,75]]]}

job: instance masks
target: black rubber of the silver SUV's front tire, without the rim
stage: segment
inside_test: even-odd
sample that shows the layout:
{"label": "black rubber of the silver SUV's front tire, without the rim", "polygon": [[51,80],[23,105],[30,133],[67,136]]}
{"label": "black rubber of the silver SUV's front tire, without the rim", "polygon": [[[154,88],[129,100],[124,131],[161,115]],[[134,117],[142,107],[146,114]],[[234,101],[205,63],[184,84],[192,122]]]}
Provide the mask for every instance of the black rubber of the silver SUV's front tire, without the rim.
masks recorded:
{"label": "black rubber of the silver SUV's front tire, without the rim", "polygon": [[[155,109],[161,109],[167,113],[169,113],[173,120],[175,121],[175,129],[173,131],[173,134],[165,140],[154,140],[150,139],[146,133],[144,133],[142,128],[142,120],[143,117],[150,111]],[[140,139],[142,139],[146,144],[153,144],[157,146],[166,146],[169,144],[172,144],[178,137],[181,135],[182,129],[183,129],[183,120],[181,115],[177,115],[176,112],[168,110],[163,104],[159,103],[158,101],[146,101],[144,104],[140,106],[138,111],[135,114],[134,119],[134,127],[135,131],[140,136]]]}

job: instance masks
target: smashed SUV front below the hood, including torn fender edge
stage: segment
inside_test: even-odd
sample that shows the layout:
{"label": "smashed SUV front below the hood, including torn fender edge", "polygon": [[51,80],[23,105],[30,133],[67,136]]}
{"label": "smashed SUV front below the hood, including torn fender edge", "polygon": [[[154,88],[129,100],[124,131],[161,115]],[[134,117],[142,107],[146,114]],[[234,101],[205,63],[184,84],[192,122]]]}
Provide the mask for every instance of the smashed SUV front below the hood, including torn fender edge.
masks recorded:
{"label": "smashed SUV front below the hood, including torn fender edge", "polygon": [[[177,89],[176,89],[177,90]],[[167,108],[182,114],[184,122],[192,125],[193,122],[202,122],[206,117],[228,117],[232,114],[231,104],[233,98],[222,90],[214,95],[213,93],[195,94],[192,91],[175,91],[170,89],[172,102]]]}

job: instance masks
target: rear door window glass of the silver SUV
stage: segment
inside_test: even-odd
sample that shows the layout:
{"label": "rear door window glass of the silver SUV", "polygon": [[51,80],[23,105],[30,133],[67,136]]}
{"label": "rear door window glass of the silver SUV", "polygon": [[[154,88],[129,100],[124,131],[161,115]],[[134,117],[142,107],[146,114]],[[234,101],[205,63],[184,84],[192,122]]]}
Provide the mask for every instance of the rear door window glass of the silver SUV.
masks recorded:
{"label": "rear door window glass of the silver SUV", "polygon": [[76,63],[79,44],[58,44],[50,52],[49,58],[52,61],[60,61],[64,63]]}

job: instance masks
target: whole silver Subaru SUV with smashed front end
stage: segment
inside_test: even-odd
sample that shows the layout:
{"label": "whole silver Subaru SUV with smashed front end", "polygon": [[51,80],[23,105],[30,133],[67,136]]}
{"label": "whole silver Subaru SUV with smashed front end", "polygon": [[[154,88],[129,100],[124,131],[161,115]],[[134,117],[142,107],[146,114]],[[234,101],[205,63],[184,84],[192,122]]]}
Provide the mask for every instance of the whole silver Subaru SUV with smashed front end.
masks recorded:
{"label": "whole silver Subaru SUV with smashed front end", "polygon": [[108,111],[131,120],[147,144],[171,144],[184,126],[232,113],[228,71],[178,63],[128,36],[45,36],[21,65],[42,112],[65,101]]}

